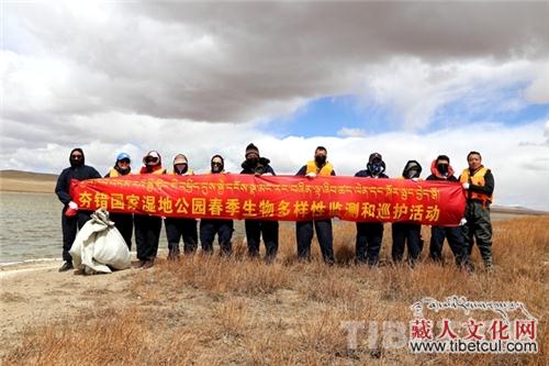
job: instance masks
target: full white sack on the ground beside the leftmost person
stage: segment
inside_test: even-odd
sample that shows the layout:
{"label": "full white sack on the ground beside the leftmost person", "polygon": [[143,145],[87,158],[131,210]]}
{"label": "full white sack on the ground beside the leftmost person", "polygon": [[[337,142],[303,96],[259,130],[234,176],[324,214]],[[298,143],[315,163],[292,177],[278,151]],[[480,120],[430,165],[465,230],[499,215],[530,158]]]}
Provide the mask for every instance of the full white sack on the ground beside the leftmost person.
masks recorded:
{"label": "full white sack on the ground beside the leftmost person", "polygon": [[111,268],[124,269],[131,265],[127,245],[105,209],[91,214],[76,236],[70,255],[75,267],[86,274],[110,274]]}

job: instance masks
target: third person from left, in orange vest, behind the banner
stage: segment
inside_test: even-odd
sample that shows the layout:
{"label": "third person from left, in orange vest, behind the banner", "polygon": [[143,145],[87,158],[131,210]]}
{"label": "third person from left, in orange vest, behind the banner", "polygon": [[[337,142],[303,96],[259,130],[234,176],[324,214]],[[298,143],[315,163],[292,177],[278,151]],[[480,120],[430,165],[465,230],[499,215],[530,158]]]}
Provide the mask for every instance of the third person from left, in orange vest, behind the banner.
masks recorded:
{"label": "third person from left, in orange vest, behind the banner", "polygon": [[[161,175],[166,173],[163,168],[163,159],[156,151],[148,152],[143,157],[144,166],[139,174]],[[158,241],[163,228],[163,218],[150,214],[134,214],[135,244],[137,246],[138,268],[150,268],[155,264],[158,253]]]}

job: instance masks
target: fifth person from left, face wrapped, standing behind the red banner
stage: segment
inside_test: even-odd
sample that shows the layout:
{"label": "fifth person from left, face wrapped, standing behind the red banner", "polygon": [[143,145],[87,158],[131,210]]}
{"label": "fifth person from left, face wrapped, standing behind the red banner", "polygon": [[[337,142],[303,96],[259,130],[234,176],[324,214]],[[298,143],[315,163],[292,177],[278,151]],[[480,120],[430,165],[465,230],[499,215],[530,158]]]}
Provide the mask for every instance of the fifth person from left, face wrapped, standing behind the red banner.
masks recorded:
{"label": "fifth person from left, face wrapped, standing behind the red banner", "polygon": [[[225,160],[221,155],[212,156],[209,174],[225,174]],[[231,239],[233,237],[234,222],[228,219],[200,220],[200,243],[204,253],[213,253],[213,240],[217,234],[220,254],[231,256],[233,252]]]}

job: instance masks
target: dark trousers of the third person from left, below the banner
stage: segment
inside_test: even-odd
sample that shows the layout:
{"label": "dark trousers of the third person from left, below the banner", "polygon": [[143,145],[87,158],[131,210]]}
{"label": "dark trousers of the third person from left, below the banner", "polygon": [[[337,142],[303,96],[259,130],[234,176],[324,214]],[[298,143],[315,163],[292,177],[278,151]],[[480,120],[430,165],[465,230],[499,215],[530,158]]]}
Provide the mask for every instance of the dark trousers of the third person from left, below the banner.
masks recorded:
{"label": "dark trousers of the third person from left, below the banner", "polygon": [[159,217],[134,214],[134,226],[137,259],[149,260],[156,258],[163,219]]}

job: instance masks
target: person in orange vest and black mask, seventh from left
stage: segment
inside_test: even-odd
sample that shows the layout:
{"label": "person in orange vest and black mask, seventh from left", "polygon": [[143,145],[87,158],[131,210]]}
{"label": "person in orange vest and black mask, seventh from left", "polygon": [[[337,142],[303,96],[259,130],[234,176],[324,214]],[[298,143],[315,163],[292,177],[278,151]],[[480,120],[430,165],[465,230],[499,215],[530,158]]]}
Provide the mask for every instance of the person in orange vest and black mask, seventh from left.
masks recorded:
{"label": "person in orange vest and black mask, seventh from left", "polygon": [[[334,166],[327,162],[328,152],[326,147],[318,146],[314,151],[314,159],[307,162],[295,174],[296,176],[306,176],[314,179],[316,176],[335,176]],[[304,260],[311,260],[311,243],[313,241],[313,226],[316,230],[318,244],[324,263],[333,265],[334,258],[334,235],[332,232],[332,220],[307,220],[295,222],[295,237],[298,241],[298,257]]]}

